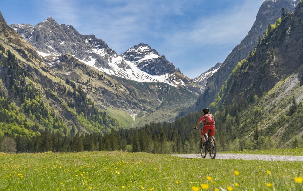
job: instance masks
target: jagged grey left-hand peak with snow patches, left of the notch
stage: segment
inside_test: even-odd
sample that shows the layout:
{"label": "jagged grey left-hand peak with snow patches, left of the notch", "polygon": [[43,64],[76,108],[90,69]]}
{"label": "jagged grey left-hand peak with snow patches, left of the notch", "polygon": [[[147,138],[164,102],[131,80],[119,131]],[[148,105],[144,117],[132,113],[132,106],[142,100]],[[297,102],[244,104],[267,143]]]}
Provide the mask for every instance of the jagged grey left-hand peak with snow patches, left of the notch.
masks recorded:
{"label": "jagged grey left-hand peak with snow patches, left of the notch", "polygon": [[35,47],[41,56],[62,55],[69,52],[86,62],[94,60],[94,64],[103,68],[109,68],[108,60],[118,56],[95,35],[82,35],[72,26],[59,25],[52,17],[35,26],[12,24],[11,27]]}

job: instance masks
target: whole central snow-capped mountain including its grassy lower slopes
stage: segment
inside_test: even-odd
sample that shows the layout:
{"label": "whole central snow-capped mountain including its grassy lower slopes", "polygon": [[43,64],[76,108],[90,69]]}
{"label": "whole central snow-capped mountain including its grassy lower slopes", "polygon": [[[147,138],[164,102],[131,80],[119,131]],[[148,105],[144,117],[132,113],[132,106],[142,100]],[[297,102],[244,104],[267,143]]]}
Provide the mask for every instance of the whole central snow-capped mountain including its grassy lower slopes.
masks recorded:
{"label": "whole central snow-capped mountain including its grassy lower slopes", "polygon": [[125,126],[172,120],[204,91],[147,44],[118,55],[95,35],[82,35],[52,17],[35,26],[10,26],[56,76],[81,85],[95,106]]}

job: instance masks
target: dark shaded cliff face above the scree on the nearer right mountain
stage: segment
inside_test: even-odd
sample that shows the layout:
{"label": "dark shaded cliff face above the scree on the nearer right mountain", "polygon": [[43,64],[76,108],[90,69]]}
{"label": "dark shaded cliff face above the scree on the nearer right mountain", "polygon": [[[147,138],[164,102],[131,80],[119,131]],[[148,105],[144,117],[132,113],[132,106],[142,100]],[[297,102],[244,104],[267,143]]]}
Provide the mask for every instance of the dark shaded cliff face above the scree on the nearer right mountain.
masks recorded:
{"label": "dark shaded cliff face above the scree on the nearer right mountain", "polygon": [[231,75],[222,92],[225,106],[239,99],[261,96],[291,74],[301,74],[302,16],[303,4],[299,3],[295,12],[282,19],[281,24],[257,45],[254,55]]}

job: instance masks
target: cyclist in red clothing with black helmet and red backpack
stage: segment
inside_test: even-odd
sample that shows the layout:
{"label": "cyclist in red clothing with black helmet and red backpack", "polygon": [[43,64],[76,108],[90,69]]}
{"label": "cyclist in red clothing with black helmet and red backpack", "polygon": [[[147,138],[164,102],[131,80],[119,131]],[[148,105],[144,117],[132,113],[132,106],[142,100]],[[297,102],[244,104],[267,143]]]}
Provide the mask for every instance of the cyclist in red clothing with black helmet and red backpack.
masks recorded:
{"label": "cyclist in red clothing with black helmet and red backpack", "polygon": [[213,118],[213,115],[211,115],[209,113],[209,109],[208,108],[204,108],[202,110],[203,112],[203,116],[201,116],[200,120],[198,121],[198,123],[195,125],[194,129],[196,129],[200,123],[203,121],[203,129],[200,132],[200,136],[202,139],[202,142],[205,142],[205,138],[204,135],[205,133],[207,133],[207,131],[210,129],[211,131],[209,132],[209,137],[213,136],[215,133],[215,120]]}

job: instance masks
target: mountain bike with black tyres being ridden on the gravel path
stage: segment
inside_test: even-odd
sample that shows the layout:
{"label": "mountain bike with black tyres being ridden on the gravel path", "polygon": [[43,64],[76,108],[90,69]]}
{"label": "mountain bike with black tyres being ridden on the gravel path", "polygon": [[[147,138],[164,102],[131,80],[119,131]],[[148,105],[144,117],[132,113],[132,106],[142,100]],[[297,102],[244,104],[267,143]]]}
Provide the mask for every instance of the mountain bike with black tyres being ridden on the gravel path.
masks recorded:
{"label": "mountain bike with black tyres being ridden on the gravel path", "polygon": [[[198,129],[197,130],[202,130],[202,129]],[[205,142],[203,143],[202,139],[200,140],[200,154],[202,156],[202,158],[206,157],[206,153],[209,152],[209,156],[212,159],[216,158],[217,155],[217,143],[216,143],[216,139],[214,136],[210,136],[208,139],[208,134],[211,130],[209,129],[207,131],[207,133],[205,133],[204,138],[205,138]]]}

